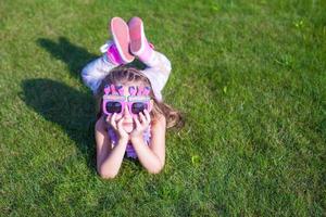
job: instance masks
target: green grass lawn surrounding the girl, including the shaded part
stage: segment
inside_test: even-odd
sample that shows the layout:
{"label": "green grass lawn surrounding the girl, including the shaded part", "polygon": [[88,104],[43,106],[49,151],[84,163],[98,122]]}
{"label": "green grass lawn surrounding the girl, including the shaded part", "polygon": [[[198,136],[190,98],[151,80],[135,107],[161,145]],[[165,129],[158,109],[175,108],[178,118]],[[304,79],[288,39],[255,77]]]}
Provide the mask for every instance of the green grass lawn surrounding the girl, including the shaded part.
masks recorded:
{"label": "green grass lawn surrounding the girl, including the shaded part", "polygon": [[[0,2],[1,216],[323,216],[322,0]],[[186,126],[166,166],[95,167],[80,68],[112,16],[143,18],[172,61],[165,101]]]}

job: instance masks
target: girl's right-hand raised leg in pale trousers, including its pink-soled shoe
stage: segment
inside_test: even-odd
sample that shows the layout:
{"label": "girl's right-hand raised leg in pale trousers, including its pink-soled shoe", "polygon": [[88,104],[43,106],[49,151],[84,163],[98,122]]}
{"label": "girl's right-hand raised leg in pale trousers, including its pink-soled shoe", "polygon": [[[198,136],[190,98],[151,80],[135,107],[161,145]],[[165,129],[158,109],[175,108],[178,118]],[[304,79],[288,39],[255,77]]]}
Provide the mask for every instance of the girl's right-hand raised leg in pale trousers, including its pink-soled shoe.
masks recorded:
{"label": "girl's right-hand raised leg in pale trousers, including its pink-soled shoe", "polygon": [[161,91],[164,88],[171,73],[171,63],[167,58],[153,50],[145,36],[143,24],[139,17],[133,17],[128,22],[130,35],[130,52],[148,67],[143,74],[150,79],[153,92],[159,101],[162,100]]}

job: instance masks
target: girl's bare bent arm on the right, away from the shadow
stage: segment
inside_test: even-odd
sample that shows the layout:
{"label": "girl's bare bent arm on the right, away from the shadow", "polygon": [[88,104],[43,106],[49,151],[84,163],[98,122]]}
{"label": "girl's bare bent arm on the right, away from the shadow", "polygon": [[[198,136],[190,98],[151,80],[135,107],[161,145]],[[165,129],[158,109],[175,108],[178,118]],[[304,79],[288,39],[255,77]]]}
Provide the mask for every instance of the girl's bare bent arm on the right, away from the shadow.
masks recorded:
{"label": "girl's bare bent arm on the right, away from the shadow", "polygon": [[151,143],[145,144],[142,137],[131,138],[140,164],[151,174],[159,174],[165,164],[166,119],[162,115],[151,126]]}

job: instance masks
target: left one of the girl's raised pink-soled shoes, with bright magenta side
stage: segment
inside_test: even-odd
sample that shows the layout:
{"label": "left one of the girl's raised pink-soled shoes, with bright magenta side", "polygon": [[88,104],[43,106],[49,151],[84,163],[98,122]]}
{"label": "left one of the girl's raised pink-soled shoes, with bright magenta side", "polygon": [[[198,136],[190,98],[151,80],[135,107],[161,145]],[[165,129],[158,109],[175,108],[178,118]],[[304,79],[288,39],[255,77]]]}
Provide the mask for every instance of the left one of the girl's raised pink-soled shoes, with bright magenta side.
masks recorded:
{"label": "left one of the girl's raised pink-soled shoes, with bright magenta side", "polygon": [[130,37],[126,22],[121,17],[113,17],[110,28],[114,43],[108,49],[108,58],[117,64],[133,62],[135,58],[129,53]]}

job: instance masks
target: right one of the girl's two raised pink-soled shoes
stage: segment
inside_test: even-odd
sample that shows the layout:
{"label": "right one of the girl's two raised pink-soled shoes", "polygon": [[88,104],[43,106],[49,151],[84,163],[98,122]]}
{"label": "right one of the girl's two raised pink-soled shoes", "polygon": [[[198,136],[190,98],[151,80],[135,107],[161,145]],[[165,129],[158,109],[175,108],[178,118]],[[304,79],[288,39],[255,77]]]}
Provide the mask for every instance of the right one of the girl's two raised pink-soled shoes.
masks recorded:
{"label": "right one of the girl's two raised pink-soled shoes", "polygon": [[143,24],[141,18],[134,16],[128,22],[130,36],[130,52],[138,56],[139,60],[149,64],[154,55],[153,46],[150,44],[143,33]]}

